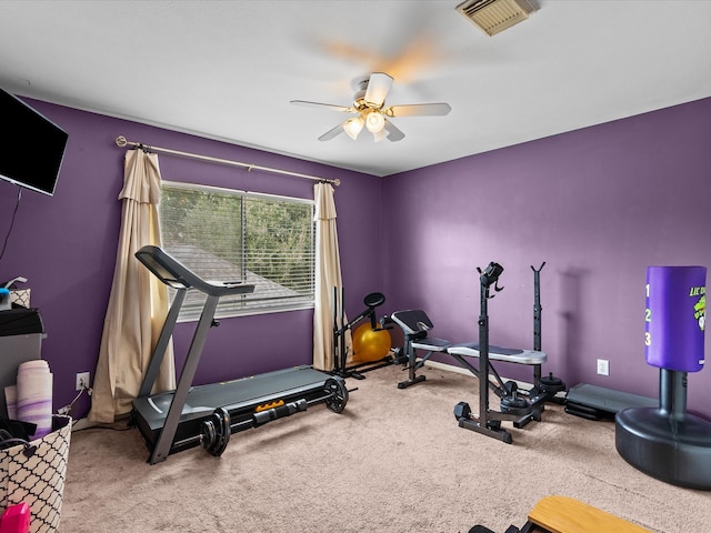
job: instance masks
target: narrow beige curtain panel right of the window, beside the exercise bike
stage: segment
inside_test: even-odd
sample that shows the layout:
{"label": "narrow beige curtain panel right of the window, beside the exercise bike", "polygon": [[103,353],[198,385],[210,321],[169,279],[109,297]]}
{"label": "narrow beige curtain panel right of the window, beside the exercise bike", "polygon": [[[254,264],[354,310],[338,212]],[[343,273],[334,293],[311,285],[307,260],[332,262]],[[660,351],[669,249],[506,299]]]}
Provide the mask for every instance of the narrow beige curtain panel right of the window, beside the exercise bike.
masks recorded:
{"label": "narrow beige curtain panel right of the window, beside the exercise bike", "polygon": [[[333,361],[333,288],[341,293],[341,258],[336,230],[333,188],[329,183],[313,187],[316,201],[316,290],[313,308],[313,366],[331,371]],[[341,316],[339,315],[340,320]],[[348,320],[344,318],[344,320]],[[341,324],[339,324],[339,328]],[[350,331],[344,342],[351,346]]]}

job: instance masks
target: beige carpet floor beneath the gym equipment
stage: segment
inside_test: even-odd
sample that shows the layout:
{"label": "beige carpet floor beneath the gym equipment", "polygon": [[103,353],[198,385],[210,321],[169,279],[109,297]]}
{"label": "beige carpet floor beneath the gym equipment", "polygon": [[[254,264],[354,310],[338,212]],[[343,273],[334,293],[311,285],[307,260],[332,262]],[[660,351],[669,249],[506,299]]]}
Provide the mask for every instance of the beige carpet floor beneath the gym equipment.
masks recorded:
{"label": "beige carpet floor beneath the gym equipment", "polygon": [[[711,492],[670,485],[625,463],[614,423],[549,405],[513,444],[460,429],[478,382],[441,369],[405,390],[398,366],[348,380],[346,411],[323,405],[202,449],[146,463],[138,430],[72,435],[60,533],[504,532],[541,497],[579,499],[654,532],[711,530]],[[495,398],[495,396],[494,396]],[[122,424],[117,424],[122,428]]]}

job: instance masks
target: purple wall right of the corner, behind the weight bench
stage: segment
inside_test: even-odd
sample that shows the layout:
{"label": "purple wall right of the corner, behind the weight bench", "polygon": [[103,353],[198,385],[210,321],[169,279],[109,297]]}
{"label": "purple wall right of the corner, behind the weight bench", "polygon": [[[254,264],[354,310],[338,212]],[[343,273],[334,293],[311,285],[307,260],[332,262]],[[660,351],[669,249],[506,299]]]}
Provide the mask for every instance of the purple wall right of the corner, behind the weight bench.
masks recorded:
{"label": "purple wall right of the corner, behind the weight bench", "polygon": [[[420,169],[383,181],[391,311],[424,309],[432,334],[478,336],[477,266],[505,286],[490,341],[532,348],[541,273],[544,371],[658,395],[644,362],[648,265],[711,266],[711,99]],[[709,335],[705,349],[709,349]],[[610,375],[597,375],[597,359]],[[501,365],[531,381],[527,368]],[[711,370],[689,375],[689,408],[711,415]]]}

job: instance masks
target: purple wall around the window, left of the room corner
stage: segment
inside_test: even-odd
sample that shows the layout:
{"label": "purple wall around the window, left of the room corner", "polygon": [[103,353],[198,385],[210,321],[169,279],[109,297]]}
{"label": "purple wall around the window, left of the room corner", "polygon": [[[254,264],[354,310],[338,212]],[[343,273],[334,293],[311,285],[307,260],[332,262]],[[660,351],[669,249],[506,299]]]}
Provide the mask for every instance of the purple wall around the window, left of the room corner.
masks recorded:
{"label": "purple wall around the window, left of the room corner", "polygon": [[[347,312],[361,310],[363,294],[382,280],[372,235],[378,235],[380,179],[326,165],[210,141],[124,120],[28,101],[69,133],[56,195],[22,191],[0,279],[28,278],[31,304],[47,331],[42,356],[54,374],[54,408],[74,396],[74,374],[93,379],[103,318],[116,264],[123,182],[122,134],[156,147],[247,163],[339,178],[336,190],[342,261],[347,265]],[[159,155],[163,179],[196,181],[242,190],[313,198],[313,181]],[[0,181],[0,228],[9,231],[18,188]],[[364,239],[364,237],[369,237]],[[378,238],[375,237],[375,242]],[[378,289],[380,290],[380,289]],[[237,379],[311,362],[313,312],[297,311],[221,320],[211,331],[196,383]],[[178,324],[176,359],[180,368],[194,323]],[[82,415],[88,402],[74,415]]]}

